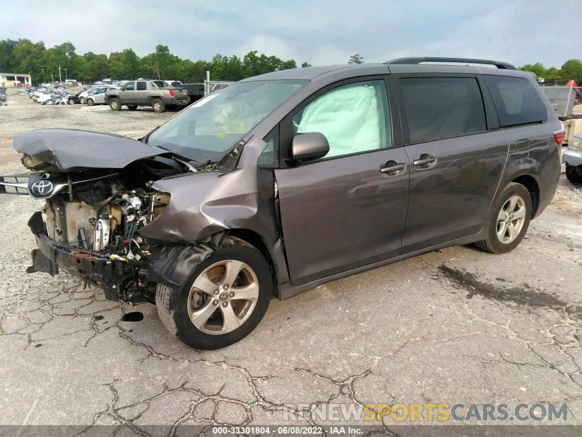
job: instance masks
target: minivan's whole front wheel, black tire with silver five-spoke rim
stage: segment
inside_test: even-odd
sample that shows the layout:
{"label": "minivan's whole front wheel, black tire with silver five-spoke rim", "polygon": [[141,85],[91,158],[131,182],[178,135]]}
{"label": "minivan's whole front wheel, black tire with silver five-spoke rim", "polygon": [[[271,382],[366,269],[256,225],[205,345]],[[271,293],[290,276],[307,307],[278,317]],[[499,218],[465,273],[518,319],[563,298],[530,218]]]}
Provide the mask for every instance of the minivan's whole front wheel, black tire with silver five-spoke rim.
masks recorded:
{"label": "minivan's whole front wheel, black tire with silver five-spoke rim", "polygon": [[257,249],[224,245],[197,265],[180,290],[158,284],[166,329],[194,349],[237,343],[261,322],[273,292],[271,269]]}

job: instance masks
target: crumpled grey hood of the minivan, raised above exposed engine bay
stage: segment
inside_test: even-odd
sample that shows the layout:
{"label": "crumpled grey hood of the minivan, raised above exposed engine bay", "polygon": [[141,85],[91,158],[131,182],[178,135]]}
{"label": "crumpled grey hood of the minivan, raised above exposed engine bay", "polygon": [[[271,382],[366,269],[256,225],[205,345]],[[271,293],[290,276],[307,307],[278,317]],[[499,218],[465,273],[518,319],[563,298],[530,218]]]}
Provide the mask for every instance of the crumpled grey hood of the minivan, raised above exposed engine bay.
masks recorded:
{"label": "crumpled grey hood of the minivan, raised above exposed engine bay", "polygon": [[12,144],[24,154],[24,167],[49,172],[123,168],[168,153],[125,136],[76,129],[38,129],[16,135]]}

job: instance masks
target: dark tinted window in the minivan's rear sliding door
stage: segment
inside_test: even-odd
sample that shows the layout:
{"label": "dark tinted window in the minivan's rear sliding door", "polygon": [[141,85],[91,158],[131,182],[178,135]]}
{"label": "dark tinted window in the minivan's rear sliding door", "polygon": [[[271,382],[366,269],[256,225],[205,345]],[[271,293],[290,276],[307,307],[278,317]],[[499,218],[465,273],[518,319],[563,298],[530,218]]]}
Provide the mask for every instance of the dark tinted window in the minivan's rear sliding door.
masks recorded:
{"label": "dark tinted window in the minivan's rear sliding door", "polygon": [[399,79],[409,143],[487,130],[481,89],[474,77]]}

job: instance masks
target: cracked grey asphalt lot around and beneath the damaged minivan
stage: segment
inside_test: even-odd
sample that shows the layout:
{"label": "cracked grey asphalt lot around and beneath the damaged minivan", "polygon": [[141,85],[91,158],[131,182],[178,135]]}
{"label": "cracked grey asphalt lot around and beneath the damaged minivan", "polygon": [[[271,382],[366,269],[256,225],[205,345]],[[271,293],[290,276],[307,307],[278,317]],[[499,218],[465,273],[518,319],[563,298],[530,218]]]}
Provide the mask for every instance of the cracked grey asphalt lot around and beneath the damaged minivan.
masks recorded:
{"label": "cracked grey asphalt lot around and beneath the damaged minivan", "polygon": [[[17,133],[139,136],[171,116],[8,98],[1,174],[23,170]],[[105,301],[66,274],[27,274],[26,223],[38,207],[0,198],[0,425],[187,435],[188,425],[281,425],[286,403],[538,402],[566,403],[567,424],[582,424],[582,186],[563,175],[512,253],[455,246],[273,300],[249,337],[218,351],[184,346],[153,305]],[[409,435],[389,415],[377,425]]]}

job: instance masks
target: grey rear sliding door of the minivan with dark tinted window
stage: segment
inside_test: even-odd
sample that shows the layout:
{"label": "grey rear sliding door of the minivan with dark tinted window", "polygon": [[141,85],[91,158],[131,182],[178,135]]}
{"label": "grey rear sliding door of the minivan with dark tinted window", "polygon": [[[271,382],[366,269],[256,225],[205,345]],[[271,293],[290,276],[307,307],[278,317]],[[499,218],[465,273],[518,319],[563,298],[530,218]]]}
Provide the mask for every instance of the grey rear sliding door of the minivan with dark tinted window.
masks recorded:
{"label": "grey rear sliding door of the minivan with dark tinted window", "polygon": [[410,202],[402,253],[477,234],[508,157],[481,75],[400,75]]}

